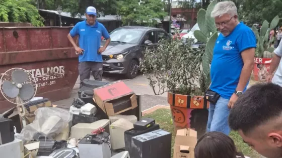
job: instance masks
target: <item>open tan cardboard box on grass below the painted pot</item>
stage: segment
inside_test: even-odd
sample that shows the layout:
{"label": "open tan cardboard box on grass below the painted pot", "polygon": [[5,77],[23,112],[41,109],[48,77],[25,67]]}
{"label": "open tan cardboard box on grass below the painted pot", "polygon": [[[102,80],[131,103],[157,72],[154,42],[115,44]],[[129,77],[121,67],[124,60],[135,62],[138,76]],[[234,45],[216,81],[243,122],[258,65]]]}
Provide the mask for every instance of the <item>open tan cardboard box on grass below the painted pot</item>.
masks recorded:
{"label": "open tan cardboard box on grass below the painted pot", "polygon": [[177,130],[173,158],[194,158],[197,143],[197,131],[192,129]]}

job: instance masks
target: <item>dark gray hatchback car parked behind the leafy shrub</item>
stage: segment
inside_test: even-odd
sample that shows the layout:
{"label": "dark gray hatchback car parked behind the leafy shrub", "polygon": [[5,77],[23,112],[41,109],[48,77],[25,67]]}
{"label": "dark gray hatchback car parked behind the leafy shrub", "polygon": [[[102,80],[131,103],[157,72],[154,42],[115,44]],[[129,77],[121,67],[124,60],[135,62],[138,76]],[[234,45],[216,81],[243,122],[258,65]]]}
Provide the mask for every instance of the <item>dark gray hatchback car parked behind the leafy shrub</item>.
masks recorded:
{"label": "dark gray hatchback car parked behind the leafy shrub", "polygon": [[[156,48],[158,41],[167,39],[168,34],[158,28],[124,26],[112,31],[110,37],[111,42],[102,53],[103,72],[135,78],[146,47]],[[104,44],[102,41],[101,46]]]}

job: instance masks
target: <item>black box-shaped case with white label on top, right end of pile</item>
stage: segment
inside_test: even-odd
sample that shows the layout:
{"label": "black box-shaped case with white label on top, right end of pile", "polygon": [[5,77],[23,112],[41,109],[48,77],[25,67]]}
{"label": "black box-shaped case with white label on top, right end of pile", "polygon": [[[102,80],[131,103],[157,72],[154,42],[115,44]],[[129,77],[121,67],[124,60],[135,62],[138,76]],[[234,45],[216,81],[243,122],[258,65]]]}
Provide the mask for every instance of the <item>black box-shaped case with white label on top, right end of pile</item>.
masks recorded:
{"label": "black box-shaped case with white label on top, right end of pile", "polygon": [[171,158],[171,133],[163,129],[132,137],[132,158]]}

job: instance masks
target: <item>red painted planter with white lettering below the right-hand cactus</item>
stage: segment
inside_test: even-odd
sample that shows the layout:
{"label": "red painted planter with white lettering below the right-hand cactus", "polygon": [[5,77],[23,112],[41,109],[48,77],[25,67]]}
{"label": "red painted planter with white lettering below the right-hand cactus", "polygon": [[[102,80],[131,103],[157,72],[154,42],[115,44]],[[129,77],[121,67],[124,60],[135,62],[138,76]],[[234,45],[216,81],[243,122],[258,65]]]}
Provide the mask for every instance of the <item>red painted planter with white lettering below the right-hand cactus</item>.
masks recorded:
{"label": "red painted planter with white lettering below the right-hand cactus", "polygon": [[254,80],[265,81],[266,73],[270,69],[271,58],[254,58]]}

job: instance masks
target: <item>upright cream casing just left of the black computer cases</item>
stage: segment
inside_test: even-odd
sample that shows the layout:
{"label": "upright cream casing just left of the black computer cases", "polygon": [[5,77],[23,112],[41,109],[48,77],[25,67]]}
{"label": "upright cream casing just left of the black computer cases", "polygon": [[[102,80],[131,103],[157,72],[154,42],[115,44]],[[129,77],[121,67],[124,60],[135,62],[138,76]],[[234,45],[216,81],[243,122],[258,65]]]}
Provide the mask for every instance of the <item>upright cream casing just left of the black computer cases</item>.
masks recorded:
{"label": "upright cream casing just left of the black computer cases", "polygon": [[132,128],[133,123],[124,118],[120,118],[110,125],[112,149],[115,150],[125,147],[124,132]]}

